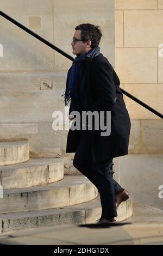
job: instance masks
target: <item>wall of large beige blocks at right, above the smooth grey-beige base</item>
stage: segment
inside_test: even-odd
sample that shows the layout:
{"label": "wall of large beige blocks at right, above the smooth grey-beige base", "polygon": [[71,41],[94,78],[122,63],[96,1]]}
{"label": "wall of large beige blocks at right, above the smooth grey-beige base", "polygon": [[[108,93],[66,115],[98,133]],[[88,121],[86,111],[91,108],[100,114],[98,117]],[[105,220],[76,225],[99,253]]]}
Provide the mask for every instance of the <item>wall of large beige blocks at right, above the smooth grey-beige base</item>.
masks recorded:
{"label": "wall of large beige blocks at right, above the smooth grey-beige base", "polygon": [[[162,0],[115,1],[115,69],[121,88],[163,113]],[[124,96],[131,118],[130,153],[163,152],[162,119]]]}

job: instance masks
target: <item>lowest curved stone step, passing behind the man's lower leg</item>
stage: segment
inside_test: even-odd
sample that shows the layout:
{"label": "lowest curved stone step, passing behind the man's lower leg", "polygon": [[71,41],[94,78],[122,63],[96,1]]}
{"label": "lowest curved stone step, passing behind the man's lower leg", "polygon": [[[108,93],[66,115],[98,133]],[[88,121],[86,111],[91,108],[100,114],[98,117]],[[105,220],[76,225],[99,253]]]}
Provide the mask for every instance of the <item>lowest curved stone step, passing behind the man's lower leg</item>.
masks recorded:
{"label": "lowest curved stone step, passing behind the man's lower leg", "polygon": [[[116,221],[124,221],[133,214],[132,199],[120,204],[117,209]],[[57,209],[16,212],[14,214],[0,215],[0,232],[21,230],[28,228],[51,227],[63,224],[96,223],[101,217],[100,197],[89,202],[66,206]]]}

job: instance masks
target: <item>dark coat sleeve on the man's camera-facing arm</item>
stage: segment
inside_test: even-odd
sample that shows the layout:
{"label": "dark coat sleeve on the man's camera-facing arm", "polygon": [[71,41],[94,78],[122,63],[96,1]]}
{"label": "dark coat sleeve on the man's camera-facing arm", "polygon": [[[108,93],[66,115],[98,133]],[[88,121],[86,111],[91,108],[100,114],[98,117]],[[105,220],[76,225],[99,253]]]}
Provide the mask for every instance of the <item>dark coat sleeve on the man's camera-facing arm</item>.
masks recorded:
{"label": "dark coat sleeve on the man's camera-facing arm", "polygon": [[90,103],[88,110],[90,111],[105,111],[111,110],[111,107],[116,103],[116,87],[113,78],[113,68],[104,59],[101,63],[92,64],[92,89],[97,95],[96,100]]}

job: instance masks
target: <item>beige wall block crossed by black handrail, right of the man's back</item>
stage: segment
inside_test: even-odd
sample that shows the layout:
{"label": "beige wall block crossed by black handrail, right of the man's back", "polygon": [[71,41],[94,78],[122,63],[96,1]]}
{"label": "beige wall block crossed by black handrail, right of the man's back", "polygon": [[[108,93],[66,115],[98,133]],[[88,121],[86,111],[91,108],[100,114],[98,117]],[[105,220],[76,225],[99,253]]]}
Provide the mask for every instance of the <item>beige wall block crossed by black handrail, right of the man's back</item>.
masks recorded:
{"label": "beige wall block crossed by black handrail, right of the man's back", "polygon": [[[163,112],[163,84],[125,84],[124,90],[156,111]],[[132,119],[160,119],[157,115],[127,96],[125,96],[125,102]]]}

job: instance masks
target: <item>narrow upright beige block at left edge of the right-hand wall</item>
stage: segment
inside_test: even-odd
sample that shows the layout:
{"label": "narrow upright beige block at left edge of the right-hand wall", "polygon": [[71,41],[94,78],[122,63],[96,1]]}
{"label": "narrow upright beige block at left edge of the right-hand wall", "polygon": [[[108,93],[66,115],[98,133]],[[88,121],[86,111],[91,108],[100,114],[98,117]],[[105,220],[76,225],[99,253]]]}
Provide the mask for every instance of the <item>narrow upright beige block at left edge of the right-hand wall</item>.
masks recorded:
{"label": "narrow upright beige block at left edge of the right-hand wall", "polygon": [[115,46],[123,47],[123,11],[115,11]]}

